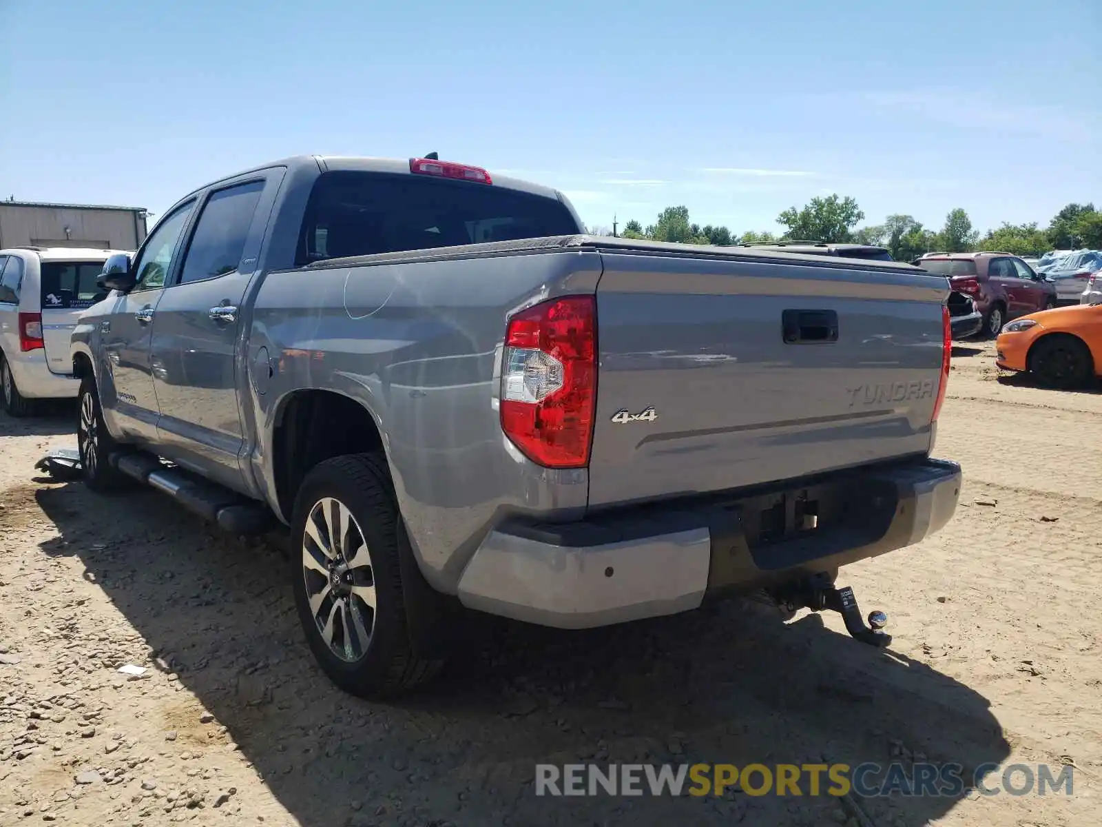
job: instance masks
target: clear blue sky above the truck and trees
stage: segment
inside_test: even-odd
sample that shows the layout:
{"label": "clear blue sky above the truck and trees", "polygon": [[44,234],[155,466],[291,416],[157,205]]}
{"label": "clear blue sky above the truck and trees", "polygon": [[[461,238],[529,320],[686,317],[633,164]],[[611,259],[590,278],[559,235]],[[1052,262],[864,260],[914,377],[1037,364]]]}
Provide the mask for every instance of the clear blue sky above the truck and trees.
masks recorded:
{"label": "clear blue sky above the truck and trees", "polygon": [[289,154],[436,150],[602,226],[1102,205],[1098,0],[0,0],[0,197],[161,213]]}

